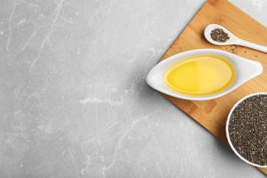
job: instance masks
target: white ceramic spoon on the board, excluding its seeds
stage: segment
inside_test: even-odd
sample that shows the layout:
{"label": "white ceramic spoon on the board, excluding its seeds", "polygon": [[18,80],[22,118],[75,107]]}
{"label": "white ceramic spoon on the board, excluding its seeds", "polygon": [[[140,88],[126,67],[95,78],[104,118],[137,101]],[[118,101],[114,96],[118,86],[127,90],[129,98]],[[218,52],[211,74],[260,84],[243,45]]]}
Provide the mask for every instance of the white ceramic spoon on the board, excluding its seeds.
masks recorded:
{"label": "white ceramic spoon on the board, excluding its seeds", "polygon": [[[212,37],[210,36],[210,33],[213,29],[223,29],[223,31],[225,31],[225,33],[228,34],[228,36],[230,37],[229,40],[227,40],[226,42],[216,42],[214,40],[212,40]],[[211,42],[212,44],[216,44],[216,45],[229,45],[229,44],[236,44],[236,45],[240,45],[240,46],[244,46],[244,47],[249,47],[252,49],[256,49],[258,51],[262,51],[264,53],[267,53],[267,47],[264,47],[262,45],[259,44],[255,44],[253,42],[248,42],[246,40],[242,40],[241,38],[238,38],[237,36],[234,36],[228,29],[226,29],[223,26],[217,25],[217,24],[210,24],[207,25],[207,27],[205,28],[204,31],[204,35],[205,38]]]}

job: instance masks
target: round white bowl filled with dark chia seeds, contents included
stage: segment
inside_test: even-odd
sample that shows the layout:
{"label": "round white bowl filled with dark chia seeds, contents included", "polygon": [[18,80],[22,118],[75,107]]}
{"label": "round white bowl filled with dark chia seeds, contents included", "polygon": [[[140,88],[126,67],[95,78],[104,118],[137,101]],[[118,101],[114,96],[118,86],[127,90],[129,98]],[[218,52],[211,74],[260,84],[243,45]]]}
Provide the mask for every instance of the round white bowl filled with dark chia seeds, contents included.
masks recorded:
{"label": "round white bowl filled with dark chia seeds, contents included", "polygon": [[253,166],[267,168],[267,92],[240,99],[229,113],[226,133],[238,157]]}

